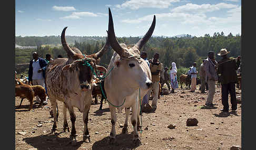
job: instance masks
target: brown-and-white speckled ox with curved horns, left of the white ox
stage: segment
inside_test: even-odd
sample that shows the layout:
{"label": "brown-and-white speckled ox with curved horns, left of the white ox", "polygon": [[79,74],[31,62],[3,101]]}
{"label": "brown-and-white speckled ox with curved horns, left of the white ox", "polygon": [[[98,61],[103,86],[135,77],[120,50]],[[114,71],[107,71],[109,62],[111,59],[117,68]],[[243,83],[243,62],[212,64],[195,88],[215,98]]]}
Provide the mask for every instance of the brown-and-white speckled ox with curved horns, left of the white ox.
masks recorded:
{"label": "brown-and-white speckled ox with curved horns, left of the white ox", "polygon": [[[76,142],[76,130],[75,120],[76,115],[73,107],[78,108],[83,113],[84,122],[84,141],[90,141],[90,135],[88,132],[88,112],[90,110],[92,101],[92,76],[93,72],[88,66],[84,66],[86,59],[88,63],[94,68],[101,68],[96,66],[96,61],[110,49],[109,41],[106,38],[105,46],[97,53],[91,55],[82,55],[82,52],[77,48],[70,48],[65,40],[65,27],[62,31],[61,41],[64,50],[67,52],[67,58],[57,58],[48,63],[46,69],[46,86],[47,92],[50,97],[50,101],[53,108],[54,123],[52,131],[56,130],[56,103],[57,100],[64,103],[63,105],[63,131],[69,131],[69,127],[66,120],[66,109],[68,109],[72,122],[72,144]],[[86,57],[86,58],[85,58]]]}

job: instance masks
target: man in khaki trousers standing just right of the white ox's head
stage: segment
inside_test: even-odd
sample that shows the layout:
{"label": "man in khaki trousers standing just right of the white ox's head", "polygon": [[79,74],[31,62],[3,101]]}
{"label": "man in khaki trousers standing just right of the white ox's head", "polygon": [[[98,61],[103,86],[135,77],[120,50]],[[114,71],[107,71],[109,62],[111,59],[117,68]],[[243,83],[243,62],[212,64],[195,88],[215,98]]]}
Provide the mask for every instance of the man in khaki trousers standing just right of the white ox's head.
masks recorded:
{"label": "man in khaki trousers standing just right of the white ox's head", "polygon": [[[159,60],[159,53],[155,53],[154,57],[149,60],[150,63],[150,71],[152,74],[152,82],[153,82],[153,91],[154,91],[154,97],[152,101],[152,110],[155,111],[157,108],[157,99],[158,99],[158,93],[159,93],[159,82],[160,82],[160,71],[162,69],[162,63]],[[147,98],[149,99],[149,97]]]}

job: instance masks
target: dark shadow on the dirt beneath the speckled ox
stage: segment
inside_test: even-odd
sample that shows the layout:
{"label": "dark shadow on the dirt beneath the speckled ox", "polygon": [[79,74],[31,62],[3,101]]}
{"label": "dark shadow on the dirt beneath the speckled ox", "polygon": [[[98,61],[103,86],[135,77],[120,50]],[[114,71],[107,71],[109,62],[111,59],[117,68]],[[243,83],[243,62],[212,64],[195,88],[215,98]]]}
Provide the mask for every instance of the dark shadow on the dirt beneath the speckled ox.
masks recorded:
{"label": "dark shadow on the dirt beneath the speckled ox", "polygon": [[37,148],[38,150],[48,150],[48,149],[78,149],[82,144],[83,141],[77,141],[75,146],[72,146],[71,138],[69,137],[59,137],[63,132],[57,134],[46,134],[46,135],[39,135],[35,137],[26,137],[23,139],[27,144]]}

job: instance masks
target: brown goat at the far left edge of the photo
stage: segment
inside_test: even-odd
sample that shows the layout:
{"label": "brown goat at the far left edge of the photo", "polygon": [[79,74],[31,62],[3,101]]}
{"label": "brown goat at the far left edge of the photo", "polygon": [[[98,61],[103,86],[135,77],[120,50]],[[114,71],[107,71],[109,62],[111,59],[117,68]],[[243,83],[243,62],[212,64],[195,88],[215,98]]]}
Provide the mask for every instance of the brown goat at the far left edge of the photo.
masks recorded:
{"label": "brown goat at the far left edge of the photo", "polygon": [[[31,88],[31,86],[27,84],[23,84],[21,80],[16,79],[15,80],[15,97],[20,97],[23,101],[24,98],[26,98],[30,105],[29,105],[29,111],[32,109],[33,106],[33,100],[35,97],[35,92]],[[22,102],[21,101],[21,102]],[[18,106],[18,108],[21,106],[21,104]]]}

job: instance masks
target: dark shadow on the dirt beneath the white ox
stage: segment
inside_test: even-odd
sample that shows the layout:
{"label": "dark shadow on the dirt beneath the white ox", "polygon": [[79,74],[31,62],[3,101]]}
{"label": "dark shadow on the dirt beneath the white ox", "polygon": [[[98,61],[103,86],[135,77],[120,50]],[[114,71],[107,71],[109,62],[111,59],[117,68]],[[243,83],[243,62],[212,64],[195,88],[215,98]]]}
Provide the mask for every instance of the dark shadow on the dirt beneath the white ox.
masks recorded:
{"label": "dark shadow on the dirt beneath the white ox", "polygon": [[105,150],[105,149],[113,149],[113,150],[120,150],[120,149],[135,149],[136,147],[140,146],[140,142],[134,143],[132,141],[133,132],[131,134],[118,134],[116,135],[115,144],[110,145],[110,138],[109,136],[102,138],[102,140],[97,141],[93,144],[93,150]]}

